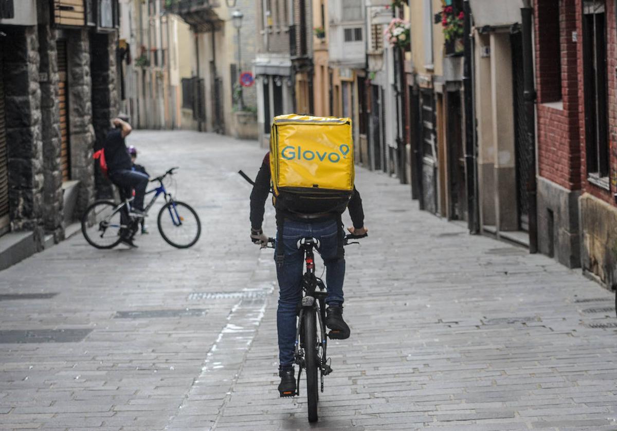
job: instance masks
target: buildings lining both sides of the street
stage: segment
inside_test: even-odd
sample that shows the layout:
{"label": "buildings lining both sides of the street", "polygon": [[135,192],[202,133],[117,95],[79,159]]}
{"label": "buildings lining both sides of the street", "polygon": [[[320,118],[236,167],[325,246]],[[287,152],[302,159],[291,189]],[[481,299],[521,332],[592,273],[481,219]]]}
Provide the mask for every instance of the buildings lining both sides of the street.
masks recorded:
{"label": "buildings lining both sides of the street", "polygon": [[59,241],[109,193],[91,155],[119,111],[264,147],[298,112],[351,117],[356,160],[421,209],[614,288],[616,17],[616,0],[4,0],[0,241]]}

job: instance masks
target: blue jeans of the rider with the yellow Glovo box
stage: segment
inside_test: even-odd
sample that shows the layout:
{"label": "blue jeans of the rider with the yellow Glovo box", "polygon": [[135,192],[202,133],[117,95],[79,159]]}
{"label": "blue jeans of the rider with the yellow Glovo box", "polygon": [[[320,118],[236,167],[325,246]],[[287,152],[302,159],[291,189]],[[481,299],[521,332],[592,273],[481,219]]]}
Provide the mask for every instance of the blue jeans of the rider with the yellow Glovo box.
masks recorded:
{"label": "blue jeans of the rider with the yellow Glovo box", "polygon": [[[278,355],[281,367],[294,363],[294,343],[296,341],[297,306],[302,298],[300,282],[304,269],[304,253],[297,248],[297,242],[305,236],[320,241],[317,251],[326,265],[326,303],[340,306],[343,303],[343,280],[345,278],[345,259],[337,256],[339,235],[344,235],[336,220],[320,223],[285,220],[283,227],[284,260],[282,267],[276,267],[279,298],[276,312],[278,328]],[[320,272],[317,270],[317,275]]]}

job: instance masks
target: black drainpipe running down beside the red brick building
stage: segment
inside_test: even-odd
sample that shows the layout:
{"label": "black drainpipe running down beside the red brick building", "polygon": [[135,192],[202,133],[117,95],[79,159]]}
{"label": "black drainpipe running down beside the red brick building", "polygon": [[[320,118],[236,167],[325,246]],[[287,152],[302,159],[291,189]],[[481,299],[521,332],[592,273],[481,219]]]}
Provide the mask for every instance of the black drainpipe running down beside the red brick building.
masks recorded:
{"label": "black drainpipe running down beside the red brick building", "polygon": [[523,98],[525,101],[525,115],[527,125],[527,142],[532,151],[531,172],[527,178],[527,195],[529,199],[529,253],[537,253],[537,203],[536,203],[536,90],[534,89],[534,60],[531,17],[533,8],[531,0],[523,0],[521,8],[521,30],[523,36]]}

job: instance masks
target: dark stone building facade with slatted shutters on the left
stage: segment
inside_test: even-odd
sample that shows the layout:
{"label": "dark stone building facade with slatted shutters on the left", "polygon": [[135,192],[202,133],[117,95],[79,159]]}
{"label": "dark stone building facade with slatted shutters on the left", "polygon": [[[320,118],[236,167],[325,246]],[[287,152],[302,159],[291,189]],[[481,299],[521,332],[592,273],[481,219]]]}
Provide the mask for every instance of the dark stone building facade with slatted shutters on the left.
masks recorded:
{"label": "dark stone building facade with slatted shutters on the left", "polygon": [[36,251],[106,193],[92,154],[118,112],[118,4],[9,3],[0,17],[0,235],[25,233]]}

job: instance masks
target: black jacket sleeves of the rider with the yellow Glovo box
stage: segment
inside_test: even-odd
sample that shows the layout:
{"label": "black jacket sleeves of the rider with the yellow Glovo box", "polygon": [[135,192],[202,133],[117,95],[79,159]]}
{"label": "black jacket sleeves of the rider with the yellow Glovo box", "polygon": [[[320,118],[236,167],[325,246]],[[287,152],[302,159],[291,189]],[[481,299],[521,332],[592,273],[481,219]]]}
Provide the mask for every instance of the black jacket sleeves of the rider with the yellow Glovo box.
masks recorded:
{"label": "black jacket sleeves of the rider with the yellow Glovo box", "polygon": [[[251,227],[255,230],[260,229],[263,223],[263,212],[265,211],[266,199],[270,193],[270,153],[263,157],[263,162],[257,172],[255,185],[251,191]],[[362,198],[354,186],[354,193],[347,206],[349,216],[354,227],[360,229],[364,227],[364,211],[362,209]],[[306,221],[306,220],[303,220]],[[313,219],[312,222],[323,221]]]}

